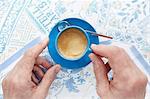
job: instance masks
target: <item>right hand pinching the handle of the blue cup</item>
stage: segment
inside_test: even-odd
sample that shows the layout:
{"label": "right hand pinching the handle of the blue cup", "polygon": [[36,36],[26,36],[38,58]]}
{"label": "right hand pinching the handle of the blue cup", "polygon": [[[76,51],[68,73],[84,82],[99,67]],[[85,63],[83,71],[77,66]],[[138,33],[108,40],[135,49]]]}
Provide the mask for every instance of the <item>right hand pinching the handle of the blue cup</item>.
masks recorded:
{"label": "right hand pinching the handle of the blue cup", "polygon": [[[97,93],[101,99],[144,99],[147,77],[120,47],[92,45],[89,55],[94,65]],[[104,64],[101,57],[108,59]],[[107,73],[112,69],[113,79]]]}

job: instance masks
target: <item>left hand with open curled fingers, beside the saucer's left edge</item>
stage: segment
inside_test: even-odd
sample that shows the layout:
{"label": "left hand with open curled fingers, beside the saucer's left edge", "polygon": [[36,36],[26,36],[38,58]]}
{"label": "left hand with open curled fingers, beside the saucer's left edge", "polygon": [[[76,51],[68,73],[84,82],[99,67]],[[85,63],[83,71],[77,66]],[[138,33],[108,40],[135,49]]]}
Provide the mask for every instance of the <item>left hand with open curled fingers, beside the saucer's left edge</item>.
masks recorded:
{"label": "left hand with open curled fingers, beside the saucer's left edge", "polygon": [[[52,66],[39,56],[47,44],[48,39],[29,49],[4,78],[2,83],[4,99],[46,98],[49,87],[60,70],[59,65]],[[45,74],[39,65],[48,69]],[[40,82],[33,71],[42,78]]]}

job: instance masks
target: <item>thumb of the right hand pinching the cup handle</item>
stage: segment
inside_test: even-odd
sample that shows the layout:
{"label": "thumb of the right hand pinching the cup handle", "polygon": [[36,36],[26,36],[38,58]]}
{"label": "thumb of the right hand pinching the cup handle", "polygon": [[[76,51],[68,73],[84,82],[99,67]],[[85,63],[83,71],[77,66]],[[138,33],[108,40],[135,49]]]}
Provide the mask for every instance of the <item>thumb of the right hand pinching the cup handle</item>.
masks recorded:
{"label": "thumb of the right hand pinching the cup handle", "polygon": [[94,73],[95,73],[98,89],[108,90],[109,88],[109,80],[107,76],[108,72],[102,59],[93,53],[90,54],[89,57],[92,60],[94,65],[93,67],[94,67]]}

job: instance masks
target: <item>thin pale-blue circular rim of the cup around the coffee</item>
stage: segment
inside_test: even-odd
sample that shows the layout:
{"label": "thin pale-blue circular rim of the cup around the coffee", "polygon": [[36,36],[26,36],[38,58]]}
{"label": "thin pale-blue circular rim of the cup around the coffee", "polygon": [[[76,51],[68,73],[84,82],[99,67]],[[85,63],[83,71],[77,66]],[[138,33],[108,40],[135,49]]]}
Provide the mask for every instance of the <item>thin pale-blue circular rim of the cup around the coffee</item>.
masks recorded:
{"label": "thin pale-blue circular rim of the cup around the coffee", "polygon": [[[80,57],[77,57],[77,58],[67,58],[67,57],[65,57],[64,55],[62,55],[61,52],[60,52],[59,49],[58,49],[58,38],[59,38],[59,36],[60,36],[64,31],[66,31],[66,30],[68,30],[68,29],[71,29],[71,28],[76,28],[76,29],[78,29],[79,31],[81,31],[82,33],[84,33],[84,35],[85,35],[85,37],[86,37],[86,39],[87,39],[87,46],[86,46],[86,49],[84,50],[84,53],[83,53]],[[56,41],[55,41],[55,47],[56,47],[56,50],[57,50],[58,54],[59,54],[62,58],[66,59],[66,60],[70,60],[70,61],[79,60],[79,59],[81,59],[82,57],[84,57],[85,54],[87,53],[88,49],[89,49],[89,44],[90,44],[90,40],[89,40],[89,37],[88,37],[88,35],[87,35],[87,32],[86,32],[84,29],[82,29],[81,27],[75,26],[75,25],[67,26],[67,27],[64,28],[62,31],[59,31],[59,34],[57,35]]]}

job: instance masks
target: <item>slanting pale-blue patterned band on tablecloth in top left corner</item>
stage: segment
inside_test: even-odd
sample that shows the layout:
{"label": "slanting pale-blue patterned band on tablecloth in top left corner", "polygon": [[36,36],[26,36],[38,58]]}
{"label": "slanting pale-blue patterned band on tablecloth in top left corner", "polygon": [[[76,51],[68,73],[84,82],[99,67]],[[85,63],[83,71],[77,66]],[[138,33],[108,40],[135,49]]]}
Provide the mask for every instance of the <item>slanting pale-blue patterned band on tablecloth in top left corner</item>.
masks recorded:
{"label": "slanting pale-blue patterned band on tablecloth in top left corner", "polygon": [[[22,9],[26,5],[25,0],[12,0],[13,4],[9,9],[9,13],[6,16],[2,27],[0,28],[0,53],[5,50],[6,44],[9,43],[9,38],[11,38],[11,33],[17,23],[17,19],[21,14]],[[5,3],[5,2],[3,2]]]}

